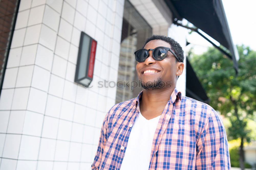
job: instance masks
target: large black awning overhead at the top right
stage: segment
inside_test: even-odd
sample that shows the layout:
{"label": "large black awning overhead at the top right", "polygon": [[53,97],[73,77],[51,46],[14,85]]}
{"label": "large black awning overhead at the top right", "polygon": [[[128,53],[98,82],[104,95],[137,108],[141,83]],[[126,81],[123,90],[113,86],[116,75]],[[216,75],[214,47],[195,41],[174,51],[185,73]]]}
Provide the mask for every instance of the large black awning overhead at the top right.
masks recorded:
{"label": "large black awning overhead at the top right", "polygon": [[[238,71],[238,53],[233,45],[226,14],[221,0],[165,0],[176,20],[185,18],[230,51],[234,68]],[[223,51],[222,51],[223,52]]]}

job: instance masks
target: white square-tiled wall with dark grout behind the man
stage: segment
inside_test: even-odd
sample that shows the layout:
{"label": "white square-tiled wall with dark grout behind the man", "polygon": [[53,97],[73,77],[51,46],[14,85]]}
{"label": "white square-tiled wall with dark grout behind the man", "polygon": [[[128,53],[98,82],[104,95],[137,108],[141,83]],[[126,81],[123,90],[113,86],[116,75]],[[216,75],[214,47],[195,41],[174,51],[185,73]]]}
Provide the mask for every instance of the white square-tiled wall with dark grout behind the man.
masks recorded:
{"label": "white square-tiled wall with dark grout behind the man", "polygon": [[[0,98],[0,170],[90,169],[115,103],[107,86],[117,80],[123,6],[20,1]],[[74,83],[81,31],[98,42],[90,88]]]}

